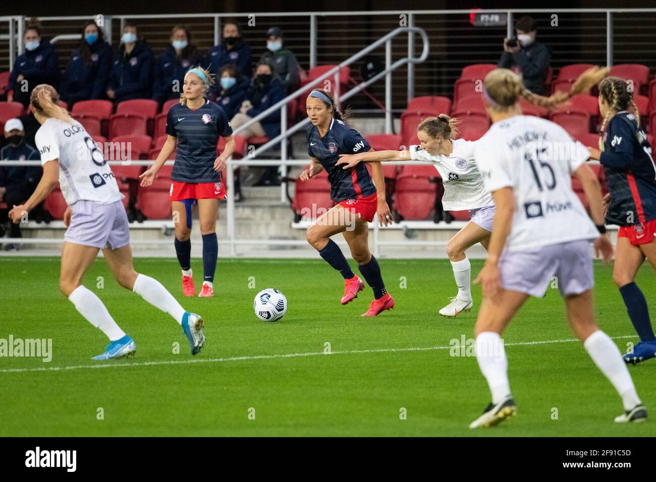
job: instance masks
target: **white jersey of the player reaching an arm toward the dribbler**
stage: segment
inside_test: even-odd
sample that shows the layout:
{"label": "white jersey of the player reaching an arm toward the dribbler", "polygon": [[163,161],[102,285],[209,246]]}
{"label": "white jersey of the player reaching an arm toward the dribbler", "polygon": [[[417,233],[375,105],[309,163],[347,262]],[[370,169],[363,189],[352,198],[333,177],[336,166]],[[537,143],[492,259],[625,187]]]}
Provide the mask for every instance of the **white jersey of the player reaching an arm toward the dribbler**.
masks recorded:
{"label": "white jersey of the player reaching an arm toward the dribbler", "polygon": [[413,161],[431,163],[440,172],[444,184],[442,206],[445,211],[463,211],[494,204],[478,167],[474,149],[476,142],[456,139],[451,155],[430,155],[419,146],[410,146]]}

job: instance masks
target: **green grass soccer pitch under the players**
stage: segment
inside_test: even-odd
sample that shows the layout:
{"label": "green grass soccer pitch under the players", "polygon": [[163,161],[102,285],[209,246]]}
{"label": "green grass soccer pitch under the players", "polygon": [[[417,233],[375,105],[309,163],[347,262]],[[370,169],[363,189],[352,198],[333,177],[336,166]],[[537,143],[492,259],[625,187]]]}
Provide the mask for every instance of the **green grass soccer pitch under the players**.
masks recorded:
{"label": "green grass soccer pitch under the players", "polygon": [[[182,296],[176,260],[136,259],[137,271],[161,281],[187,310],[206,319],[207,343],[192,357],[179,325],[119,287],[98,259],[85,286],[137,346],[134,358],[113,362],[91,360],[107,340],[58,291],[59,264],[55,257],[0,258],[0,338],[52,338],[53,351],[49,363],[0,357],[0,435],[656,433],[653,421],[613,422],[623,411],[621,401],[583,346],[571,341],[556,290],[529,300],[504,334],[518,416],[474,432],[468,424],[489,402],[487,384],[476,359],[451,356],[449,346],[472,337],[480,287],[473,290],[474,310],[457,319],[440,317],[437,311],[455,294],[448,260],[381,260],[396,308],[365,319],[360,315],[371,289],[340,306],[340,276],[320,259],[220,259],[209,299]],[[202,262],[192,264],[198,283]],[[474,276],[481,267],[481,260],[472,261]],[[595,265],[595,308],[602,329],[624,337],[614,339],[625,352],[637,338],[626,337],[634,330],[611,273],[611,266]],[[102,289],[98,277],[104,278]],[[656,319],[653,270],[643,266],[636,281]],[[289,303],[277,323],[253,313],[256,292],[267,287],[280,289]],[[176,342],[179,354],[173,353]],[[331,354],[323,353],[326,343]],[[655,416],[655,361],[629,370]]]}

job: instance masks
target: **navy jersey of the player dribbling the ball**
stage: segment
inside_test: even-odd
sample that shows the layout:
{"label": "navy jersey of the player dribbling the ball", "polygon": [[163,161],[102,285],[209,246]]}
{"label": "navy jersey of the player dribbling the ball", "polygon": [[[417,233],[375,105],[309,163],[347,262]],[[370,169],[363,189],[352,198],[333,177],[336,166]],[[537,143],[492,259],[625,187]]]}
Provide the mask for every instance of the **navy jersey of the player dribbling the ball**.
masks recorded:
{"label": "navy jersey of the player dribbling the ball", "polygon": [[337,203],[344,199],[366,197],[376,192],[376,186],[369,176],[365,163],[352,169],[342,169],[335,165],[340,154],[355,154],[371,150],[369,142],[358,131],[342,121],[333,119],[325,136],[319,135],[319,128],[310,125],[307,131],[308,155],[317,159],[328,173],[330,197]]}

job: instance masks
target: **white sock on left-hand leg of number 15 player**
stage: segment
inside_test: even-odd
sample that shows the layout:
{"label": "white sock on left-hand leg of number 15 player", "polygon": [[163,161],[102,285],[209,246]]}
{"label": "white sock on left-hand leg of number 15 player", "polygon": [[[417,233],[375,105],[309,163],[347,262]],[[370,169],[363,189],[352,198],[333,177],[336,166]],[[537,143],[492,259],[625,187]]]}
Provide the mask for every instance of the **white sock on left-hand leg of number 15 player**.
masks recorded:
{"label": "white sock on left-hand leg of number 15 player", "polygon": [[484,331],[476,337],[475,348],[478,367],[492,392],[492,403],[499,403],[510,395],[508,359],[501,336],[499,333]]}

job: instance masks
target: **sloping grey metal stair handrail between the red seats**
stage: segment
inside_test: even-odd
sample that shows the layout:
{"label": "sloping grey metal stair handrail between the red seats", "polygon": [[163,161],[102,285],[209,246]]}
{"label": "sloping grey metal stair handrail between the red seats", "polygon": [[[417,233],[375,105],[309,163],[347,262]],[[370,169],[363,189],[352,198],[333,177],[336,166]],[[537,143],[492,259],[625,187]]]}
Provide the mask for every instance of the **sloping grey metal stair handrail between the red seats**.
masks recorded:
{"label": "sloping grey metal stair handrail between the red seats", "polygon": [[[411,54],[409,54],[407,57],[400,58],[396,62],[392,64],[392,39],[394,37],[397,37],[398,35],[413,35],[414,33],[419,33],[421,39],[422,39],[422,52],[419,57],[414,57]],[[367,55],[369,52],[372,50],[377,49],[380,45],[385,45],[385,69],[381,72],[379,72],[377,75],[374,77],[371,77],[371,79],[364,81],[362,83],[359,83],[356,87],[353,89],[349,90],[348,92],[344,94],[340,94],[340,77],[339,73],[340,70],[344,67],[350,66],[363,56]],[[375,83],[382,77],[385,77],[385,132],[387,134],[392,133],[392,71],[398,69],[401,66],[404,66],[406,64],[418,64],[420,62],[424,62],[428,58],[428,37],[426,36],[426,31],[417,28],[417,27],[399,27],[395,30],[390,31],[387,35],[384,35],[371,45],[367,47],[366,49],[360,50],[357,54],[350,56],[344,62],[339,64],[338,66],[333,67],[331,70],[327,71],[323,75],[317,77],[314,81],[304,85],[303,87],[300,87],[298,90],[295,92],[289,94],[287,97],[283,98],[279,102],[276,102],[273,106],[268,108],[267,110],[259,113],[252,119],[249,119],[249,121],[243,123],[243,125],[240,125],[234,130],[234,134],[239,134],[239,132],[243,132],[247,127],[250,125],[253,125],[254,123],[260,121],[261,119],[264,119],[268,115],[274,113],[275,111],[279,110],[280,111],[280,134],[274,137],[273,139],[270,139],[266,144],[263,144],[262,146],[258,147],[257,149],[251,151],[249,153],[249,157],[255,157],[258,153],[264,152],[268,150],[268,148],[271,148],[272,146],[275,146],[276,144],[280,144],[280,158],[282,161],[287,160],[287,138],[294,134],[295,132],[299,131],[302,129],[304,126],[308,125],[310,123],[310,119],[308,117],[305,117],[302,121],[298,122],[297,124],[293,125],[293,127],[287,128],[287,104],[291,102],[291,100],[294,100],[301,95],[304,95],[308,90],[312,89],[312,87],[316,85],[320,85],[325,79],[329,79],[330,77],[333,77],[333,96],[335,98],[335,103],[337,106],[340,106],[341,102],[344,100],[348,100],[348,98],[354,96],[358,92],[360,92],[362,89],[365,89],[369,85]],[[339,107],[338,107],[339,108]],[[285,163],[281,163],[281,175],[284,178],[287,175],[287,165]],[[285,202],[285,193],[287,192],[287,184],[285,182],[281,183],[281,190],[280,190],[280,200],[281,202]]]}

